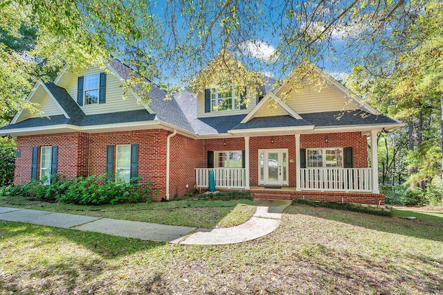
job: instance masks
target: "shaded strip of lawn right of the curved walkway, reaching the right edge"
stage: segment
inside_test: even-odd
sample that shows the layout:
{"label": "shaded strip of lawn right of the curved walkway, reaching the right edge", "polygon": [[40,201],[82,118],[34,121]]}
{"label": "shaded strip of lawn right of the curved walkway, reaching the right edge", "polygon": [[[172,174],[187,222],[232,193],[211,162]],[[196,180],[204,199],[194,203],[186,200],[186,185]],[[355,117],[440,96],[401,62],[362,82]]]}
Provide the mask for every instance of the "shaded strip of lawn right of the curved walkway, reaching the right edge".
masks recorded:
{"label": "shaded strip of lawn right of the curved walkway, reaching the right edge", "polygon": [[287,207],[284,213],[309,215],[361,226],[365,229],[443,242],[443,222],[418,219],[405,220],[397,217],[383,217],[352,211],[311,207],[304,204],[292,204]]}

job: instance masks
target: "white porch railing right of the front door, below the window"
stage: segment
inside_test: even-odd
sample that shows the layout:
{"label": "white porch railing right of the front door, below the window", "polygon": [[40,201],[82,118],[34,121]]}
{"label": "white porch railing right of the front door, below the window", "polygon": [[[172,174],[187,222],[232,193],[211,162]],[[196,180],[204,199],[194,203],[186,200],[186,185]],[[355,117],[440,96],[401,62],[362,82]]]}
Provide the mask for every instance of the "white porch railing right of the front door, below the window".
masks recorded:
{"label": "white porch railing right of the front door, below the window", "polygon": [[371,168],[302,168],[302,190],[370,192]]}

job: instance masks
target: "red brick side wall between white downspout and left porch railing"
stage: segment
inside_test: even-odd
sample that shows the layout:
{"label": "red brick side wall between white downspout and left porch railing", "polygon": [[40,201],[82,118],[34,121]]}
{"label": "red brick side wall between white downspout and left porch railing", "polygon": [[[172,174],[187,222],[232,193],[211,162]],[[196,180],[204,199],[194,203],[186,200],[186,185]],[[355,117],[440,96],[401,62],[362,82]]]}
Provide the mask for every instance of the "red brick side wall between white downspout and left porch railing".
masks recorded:
{"label": "red brick side wall between white downspout and left porch railing", "polygon": [[[170,197],[194,191],[195,168],[206,167],[204,141],[182,135],[170,139]],[[186,188],[188,185],[188,188]]]}

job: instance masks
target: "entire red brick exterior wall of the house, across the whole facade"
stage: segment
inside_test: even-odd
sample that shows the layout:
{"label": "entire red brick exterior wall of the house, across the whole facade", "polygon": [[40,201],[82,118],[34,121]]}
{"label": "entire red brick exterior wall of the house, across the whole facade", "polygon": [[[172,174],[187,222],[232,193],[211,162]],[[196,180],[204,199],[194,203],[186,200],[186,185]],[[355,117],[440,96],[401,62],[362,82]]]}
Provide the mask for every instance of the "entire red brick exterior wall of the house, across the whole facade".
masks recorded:
{"label": "entire red brick exterior wall of the house, across the whole facade", "polygon": [[[21,157],[16,159],[15,185],[30,181],[32,147],[39,147],[37,162],[37,179],[39,179],[40,148],[57,145],[57,172],[68,177],[101,175],[106,172],[107,145],[138,144],[138,176],[142,183],[150,180],[152,188],[159,194],[154,200],[160,200],[166,194],[166,141],[171,134],[163,129],[148,129],[128,132],[107,132],[87,134],[82,132],[60,133],[35,136],[19,136],[17,149]],[[271,143],[271,138],[273,143]],[[325,143],[328,138],[328,143]],[[177,134],[171,138],[170,154],[170,197],[191,192],[195,185],[195,168],[207,167],[208,151],[244,150],[244,138],[193,139]],[[366,136],[360,132],[334,134],[303,134],[300,136],[300,147],[352,147],[355,168],[368,167],[368,150]],[[288,159],[296,159],[295,136],[253,136],[249,139],[250,185],[258,186],[258,150],[288,149]],[[114,149],[114,170],[116,165],[116,148]],[[296,163],[289,161],[289,186],[296,186]],[[186,188],[188,185],[188,188]],[[266,193],[269,195],[269,192]],[[297,193],[298,194],[298,193]],[[346,195],[334,193],[307,193],[312,199],[329,200]],[[372,195],[372,194],[352,194]],[[261,196],[262,195],[257,195]],[[316,196],[316,197],[315,197]],[[322,197],[326,196],[326,197]],[[277,197],[269,195],[270,198]],[[280,196],[281,197],[281,196]],[[280,198],[278,197],[278,198]],[[379,198],[379,197],[377,197]],[[378,204],[378,199],[376,200]],[[374,201],[374,202],[376,202]],[[338,202],[338,201],[336,201]],[[368,203],[372,204],[372,203]]]}

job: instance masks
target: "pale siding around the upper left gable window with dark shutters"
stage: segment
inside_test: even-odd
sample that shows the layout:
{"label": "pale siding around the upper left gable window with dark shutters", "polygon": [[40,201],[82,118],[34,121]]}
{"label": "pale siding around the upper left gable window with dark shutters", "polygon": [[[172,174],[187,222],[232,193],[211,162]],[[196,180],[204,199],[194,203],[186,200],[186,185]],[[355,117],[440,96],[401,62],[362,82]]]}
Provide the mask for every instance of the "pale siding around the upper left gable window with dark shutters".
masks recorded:
{"label": "pale siding around the upper left gable window with dark shutters", "polygon": [[[80,71],[78,75],[73,76],[71,81],[66,84],[66,91],[77,101],[78,76],[101,73],[102,69],[93,67],[85,71]],[[107,73],[106,77],[106,102],[97,105],[83,105],[81,108],[84,114],[103,114],[114,113],[116,111],[134,111],[136,109],[145,109],[143,105],[137,105],[136,97],[132,93],[127,94],[126,100],[123,100],[123,89],[120,85],[123,81],[119,80],[114,73]]]}

